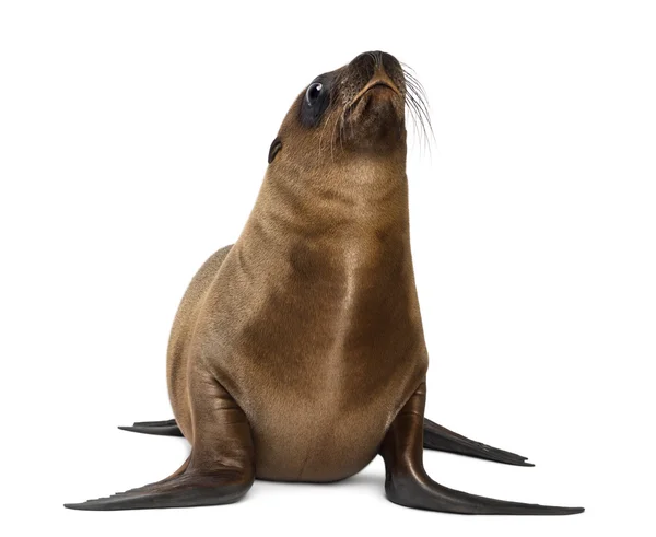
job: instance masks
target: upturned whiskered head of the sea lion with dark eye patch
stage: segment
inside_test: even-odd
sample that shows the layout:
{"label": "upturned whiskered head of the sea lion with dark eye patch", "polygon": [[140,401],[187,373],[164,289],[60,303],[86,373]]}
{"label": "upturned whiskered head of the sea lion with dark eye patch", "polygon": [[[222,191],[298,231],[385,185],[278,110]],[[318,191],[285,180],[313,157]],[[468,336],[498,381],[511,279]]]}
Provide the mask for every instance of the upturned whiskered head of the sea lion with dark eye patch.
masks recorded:
{"label": "upturned whiskered head of the sea lion with dark eye patch", "polygon": [[415,79],[387,52],[361,54],[304,87],[271,144],[269,163],[285,153],[296,162],[390,151],[405,159],[407,105],[424,116]]}

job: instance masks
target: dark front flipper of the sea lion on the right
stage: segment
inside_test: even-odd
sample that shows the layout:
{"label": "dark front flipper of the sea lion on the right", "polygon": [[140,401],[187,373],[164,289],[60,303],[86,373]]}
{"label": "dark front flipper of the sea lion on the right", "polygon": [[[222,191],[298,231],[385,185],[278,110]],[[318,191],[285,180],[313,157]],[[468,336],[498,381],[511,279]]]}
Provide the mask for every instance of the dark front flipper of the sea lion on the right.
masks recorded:
{"label": "dark front flipper of the sea lion on the right", "polygon": [[448,489],[433,481],[423,467],[422,430],[425,383],[395,418],[380,454],[385,459],[385,492],[394,503],[408,507],[460,514],[569,515],[583,507],[552,507],[494,500]]}

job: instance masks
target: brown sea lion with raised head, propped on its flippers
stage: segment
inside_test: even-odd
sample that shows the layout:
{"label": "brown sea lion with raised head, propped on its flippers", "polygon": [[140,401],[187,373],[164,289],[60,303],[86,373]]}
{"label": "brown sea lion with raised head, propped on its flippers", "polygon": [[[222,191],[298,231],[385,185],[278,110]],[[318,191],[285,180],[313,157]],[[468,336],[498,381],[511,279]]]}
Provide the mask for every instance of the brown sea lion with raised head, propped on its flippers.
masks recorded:
{"label": "brown sea lion with raised head, propped on its flippers", "polygon": [[467,442],[423,418],[429,360],[406,176],[406,106],[423,109],[413,89],[396,58],[376,51],[297,96],[244,231],[200,268],[179,306],[167,359],[175,422],[141,425],[179,428],[188,459],[156,483],[67,507],[231,503],[256,478],[336,481],[379,454],[387,497],[401,505],[583,511],[476,497],[424,471],[424,427],[436,447]]}

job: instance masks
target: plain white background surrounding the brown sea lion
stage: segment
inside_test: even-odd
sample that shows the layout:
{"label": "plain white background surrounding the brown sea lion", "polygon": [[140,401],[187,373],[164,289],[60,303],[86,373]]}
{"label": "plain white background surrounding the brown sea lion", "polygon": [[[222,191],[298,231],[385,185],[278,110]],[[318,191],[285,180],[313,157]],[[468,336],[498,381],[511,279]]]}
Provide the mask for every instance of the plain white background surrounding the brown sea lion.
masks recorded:
{"label": "plain white background surrounding the brown sea lion", "polygon": [[[0,5],[3,535],[654,535],[653,2]],[[172,417],[188,281],[238,236],[297,93],[373,49],[432,105],[431,153],[408,156],[426,415],[537,464],[426,467],[586,513],[399,507],[379,459],[230,506],[65,510],[184,462],[115,425]]]}

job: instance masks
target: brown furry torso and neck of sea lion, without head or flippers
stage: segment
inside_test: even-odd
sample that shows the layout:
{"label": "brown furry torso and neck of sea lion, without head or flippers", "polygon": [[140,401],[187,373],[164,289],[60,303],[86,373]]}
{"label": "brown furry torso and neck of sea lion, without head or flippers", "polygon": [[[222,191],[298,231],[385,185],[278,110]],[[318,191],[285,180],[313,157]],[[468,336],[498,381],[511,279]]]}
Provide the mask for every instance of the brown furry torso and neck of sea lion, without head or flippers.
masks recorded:
{"label": "brown furry torso and neck of sea lion, without head or flippers", "polygon": [[[191,439],[192,394],[176,372],[207,369],[248,417],[257,477],[333,481],[374,458],[427,367],[408,229],[399,225],[407,182],[382,170],[375,185],[344,179],[330,197],[318,185],[296,194],[291,171],[276,172],[241,238],[206,262],[183,300],[171,400]],[[349,197],[356,187],[373,190],[361,207]]]}

